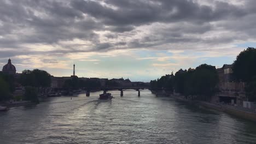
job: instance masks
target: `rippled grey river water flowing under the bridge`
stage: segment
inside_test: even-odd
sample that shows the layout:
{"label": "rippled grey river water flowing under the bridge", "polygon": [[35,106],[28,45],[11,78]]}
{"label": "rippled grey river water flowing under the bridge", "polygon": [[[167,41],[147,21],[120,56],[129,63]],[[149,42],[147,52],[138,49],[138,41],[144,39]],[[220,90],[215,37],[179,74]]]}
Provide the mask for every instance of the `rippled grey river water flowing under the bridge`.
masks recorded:
{"label": "rippled grey river water flowing under the bridge", "polygon": [[256,123],[150,91],[56,97],[0,113],[0,143],[256,143]]}

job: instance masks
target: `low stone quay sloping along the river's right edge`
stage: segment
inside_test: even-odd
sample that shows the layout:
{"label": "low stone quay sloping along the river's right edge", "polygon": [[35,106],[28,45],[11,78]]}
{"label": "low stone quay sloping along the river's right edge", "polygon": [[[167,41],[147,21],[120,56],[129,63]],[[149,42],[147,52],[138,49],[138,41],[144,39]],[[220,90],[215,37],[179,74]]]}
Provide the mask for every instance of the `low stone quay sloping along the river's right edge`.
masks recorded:
{"label": "low stone quay sloping along the river's right edge", "polygon": [[[162,95],[161,92],[152,92],[156,95]],[[212,109],[217,111],[222,111],[225,113],[228,113],[229,115],[240,117],[243,119],[247,119],[249,121],[256,122],[256,111],[245,109],[243,107],[238,106],[231,106],[231,105],[225,105],[225,104],[219,104],[219,103],[208,103],[206,101],[198,101],[198,100],[188,100],[185,99],[182,95],[179,94],[165,94],[168,95],[174,99],[184,101],[189,104],[193,104],[196,106],[204,107],[205,109]]]}

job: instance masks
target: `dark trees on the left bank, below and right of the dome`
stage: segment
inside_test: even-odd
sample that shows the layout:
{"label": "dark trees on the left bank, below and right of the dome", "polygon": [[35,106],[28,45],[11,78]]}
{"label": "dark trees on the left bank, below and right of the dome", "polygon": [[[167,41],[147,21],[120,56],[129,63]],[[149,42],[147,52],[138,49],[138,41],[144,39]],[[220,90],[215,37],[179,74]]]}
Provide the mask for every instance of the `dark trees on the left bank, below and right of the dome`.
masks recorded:
{"label": "dark trees on the left bank, below and right of the dome", "polygon": [[[0,73],[0,101],[9,99],[23,99],[38,102],[38,88],[50,87],[50,74],[44,70],[24,70],[20,77],[16,79],[14,75]],[[15,87],[22,85],[25,87],[25,94],[13,97],[11,93]]]}

